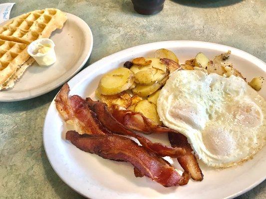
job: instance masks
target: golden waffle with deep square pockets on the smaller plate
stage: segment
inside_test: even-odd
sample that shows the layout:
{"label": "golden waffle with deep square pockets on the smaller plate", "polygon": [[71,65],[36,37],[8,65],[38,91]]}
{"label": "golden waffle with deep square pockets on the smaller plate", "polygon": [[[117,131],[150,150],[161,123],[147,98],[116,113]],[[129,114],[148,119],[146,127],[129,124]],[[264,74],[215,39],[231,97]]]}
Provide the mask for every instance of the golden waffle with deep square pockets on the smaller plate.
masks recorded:
{"label": "golden waffle with deep square pockets on the smaller plate", "polygon": [[63,27],[66,19],[59,9],[46,8],[22,14],[0,26],[0,90],[12,87],[33,62],[30,59],[25,63],[30,58],[28,44],[50,37],[52,31]]}

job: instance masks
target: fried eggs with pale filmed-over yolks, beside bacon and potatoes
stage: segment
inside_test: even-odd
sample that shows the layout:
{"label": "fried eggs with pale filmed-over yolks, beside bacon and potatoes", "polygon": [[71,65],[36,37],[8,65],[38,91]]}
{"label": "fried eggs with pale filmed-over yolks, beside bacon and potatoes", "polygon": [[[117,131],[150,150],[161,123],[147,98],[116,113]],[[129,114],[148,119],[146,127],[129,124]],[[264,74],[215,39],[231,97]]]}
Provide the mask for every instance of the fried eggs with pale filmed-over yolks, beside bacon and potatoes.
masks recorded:
{"label": "fried eggs with pale filmed-over yolks, beside bacon and potatoes", "polygon": [[175,71],[160,92],[157,111],[211,167],[236,165],[265,144],[266,101],[233,75]]}

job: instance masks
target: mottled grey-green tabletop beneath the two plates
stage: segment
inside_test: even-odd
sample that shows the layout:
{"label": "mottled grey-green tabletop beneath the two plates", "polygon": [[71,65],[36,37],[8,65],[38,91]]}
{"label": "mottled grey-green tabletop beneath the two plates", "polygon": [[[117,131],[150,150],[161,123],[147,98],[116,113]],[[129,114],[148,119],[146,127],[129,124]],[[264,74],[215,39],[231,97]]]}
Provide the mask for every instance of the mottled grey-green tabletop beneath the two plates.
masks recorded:
{"label": "mottled grey-green tabletop beneath the two plates", "polygon": [[[143,16],[130,0],[12,0],[10,17],[56,7],[82,18],[94,36],[85,67],[114,52],[164,40],[225,44],[266,61],[266,0],[202,1],[166,0],[159,14]],[[0,102],[0,199],[83,198],[55,174],[42,144],[45,113],[58,90]],[[266,181],[238,199],[266,199]]]}

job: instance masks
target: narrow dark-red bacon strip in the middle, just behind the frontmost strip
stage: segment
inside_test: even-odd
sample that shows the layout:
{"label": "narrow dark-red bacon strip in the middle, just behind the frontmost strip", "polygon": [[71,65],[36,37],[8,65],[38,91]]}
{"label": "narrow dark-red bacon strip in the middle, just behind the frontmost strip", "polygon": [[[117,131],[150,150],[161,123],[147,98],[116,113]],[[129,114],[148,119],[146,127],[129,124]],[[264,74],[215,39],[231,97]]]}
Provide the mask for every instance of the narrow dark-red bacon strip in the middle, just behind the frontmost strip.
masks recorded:
{"label": "narrow dark-red bacon strip in the middle, just behind the frontmost strip", "polygon": [[90,109],[96,113],[97,118],[100,120],[100,122],[110,131],[121,135],[128,135],[135,137],[136,139],[139,140],[142,146],[151,151],[156,152],[161,157],[170,156],[172,158],[177,158],[185,155],[186,150],[183,148],[178,148],[178,147],[173,148],[170,146],[163,145],[161,143],[152,143],[149,139],[141,135],[138,135],[131,130],[126,129],[123,126],[123,124],[118,122],[108,111],[106,103],[93,101],[90,98],[87,98],[86,101],[88,102]]}

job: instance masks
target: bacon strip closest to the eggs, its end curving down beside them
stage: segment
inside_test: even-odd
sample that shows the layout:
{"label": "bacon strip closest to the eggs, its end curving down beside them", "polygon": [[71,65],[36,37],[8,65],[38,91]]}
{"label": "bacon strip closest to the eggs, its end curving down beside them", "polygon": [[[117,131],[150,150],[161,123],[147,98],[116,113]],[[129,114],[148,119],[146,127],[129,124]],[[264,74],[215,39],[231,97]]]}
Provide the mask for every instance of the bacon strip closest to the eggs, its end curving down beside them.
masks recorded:
{"label": "bacon strip closest to the eggs, its end curving down beside them", "polygon": [[140,112],[132,112],[121,109],[118,105],[112,105],[111,109],[112,116],[122,123],[127,129],[136,130],[145,134],[169,133],[169,139],[171,138],[170,143],[173,147],[186,149],[186,155],[177,158],[184,171],[190,172],[193,180],[203,180],[202,171],[186,136],[170,128],[155,124],[152,120],[146,118]]}

